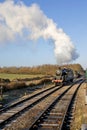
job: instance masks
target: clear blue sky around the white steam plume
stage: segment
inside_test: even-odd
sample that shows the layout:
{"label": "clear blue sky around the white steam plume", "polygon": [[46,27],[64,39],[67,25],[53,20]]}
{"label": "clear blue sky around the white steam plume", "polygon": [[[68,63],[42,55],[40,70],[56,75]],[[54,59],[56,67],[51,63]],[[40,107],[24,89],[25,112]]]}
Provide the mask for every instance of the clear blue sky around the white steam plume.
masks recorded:
{"label": "clear blue sky around the white steam plume", "polygon": [[[84,1],[83,0],[80,0],[80,1],[79,0],[21,0],[21,1],[23,2],[23,6],[25,6],[27,9],[31,7],[32,4],[35,3],[37,5],[35,6],[35,9],[39,7],[39,11],[42,11],[44,14],[43,17],[46,16],[47,21],[49,19],[53,20],[52,23],[56,24],[56,28],[58,29],[61,28],[63,30],[63,32],[61,33],[62,34],[65,33],[66,37],[68,36],[71,39],[70,41],[72,41],[72,44],[74,45],[76,49],[75,50],[76,52],[73,50],[71,51],[71,53],[72,52],[78,53],[79,57],[74,54],[73,54],[74,56],[73,55],[71,56],[71,59],[67,59],[65,57],[66,63],[79,63],[82,65],[83,68],[86,68],[87,1],[86,0]],[[18,2],[18,0],[13,1],[14,3],[13,6],[16,5],[16,2]],[[0,0],[0,7],[4,5],[3,3],[5,3],[5,1]],[[7,3],[5,5],[7,5]],[[6,8],[5,5],[3,7]],[[11,10],[14,10],[13,6]],[[4,12],[4,9],[2,8],[2,10],[0,11]],[[1,18],[6,18],[5,13],[0,14],[0,15],[1,15]],[[23,16],[24,15],[25,14],[23,14]],[[30,12],[29,12],[29,15],[31,15]],[[38,17],[38,19],[40,17]],[[3,21],[4,20],[0,21],[1,23],[0,26],[4,25],[2,24]],[[41,21],[38,21],[38,22],[40,22],[41,24]],[[7,27],[7,23],[5,27]],[[9,23],[10,23],[10,20],[9,20]],[[55,57],[55,55],[59,55],[59,53],[54,54],[54,48],[56,48],[56,44],[54,44],[53,42],[56,41],[57,39],[54,38],[55,36],[53,36],[53,32],[51,33],[52,35],[48,33],[49,37],[45,38],[45,40],[43,38],[44,35],[42,35],[42,37],[39,36],[39,38],[34,37],[33,38],[34,40],[32,40],[32,39],[25,38],[26,37],[25,35],[29,36],[30,30],[28,30],[29,28],[27,27],[26,27],[27,29],[24,28],[24,26],[25,25],[22,25],[23,28],[21,27],[22,29],[18,28],[17,30],[17,26],[13,27],[13,24],[12,26],[9,25],[8,28],[11,28],[11,30],[10,29],[6,30],[7,32],[9,32],[9,35],[8,33],[5,34],[5,31],[0,32],[0,34],[2,34],[1,37],[4,37],[3,38],[4,40],[1,39],[0,41],[0,66],[18,66],[19,67],[19,66],[36,66],[36,65],[42,65],[42,64],[58,64],[61,58],[59,56]],[[21,31],[23,30],[22,32],[23,35],[19,31],[19,29]],[[33,29],[33,34],[35,34],[36,36],[36,33],[34,33],[35,29],[34,28],[32,29]],[[13,38],[14,34],[12,33],[16,35],[15,38]],[[45,37],[47,37],[48,34],[45,35]],[[6,35],[8,36],[8,39]],[[56,35],[56,32],[55,32],[55,35]],[[61,35],[61,37],[62,36],[63,35]],[[71,45],[71,42],[69,45]],[[60,46],[60,44],[58,44],[58,46]],[[66,51],[64,50],[65,52],[64,55],[66,55],[67,42],[65,43],[64,46],[66,47]],[[56,50],[58,50],[58,48]],[[61,53],[61,55],[62,54],[63,52]],[[73,57],[75,57],[75,60],[73,60]],[[63,63],[65,62],[65,60],[63,60],[63,57],[62,57],[61,63],[62,61]]]}

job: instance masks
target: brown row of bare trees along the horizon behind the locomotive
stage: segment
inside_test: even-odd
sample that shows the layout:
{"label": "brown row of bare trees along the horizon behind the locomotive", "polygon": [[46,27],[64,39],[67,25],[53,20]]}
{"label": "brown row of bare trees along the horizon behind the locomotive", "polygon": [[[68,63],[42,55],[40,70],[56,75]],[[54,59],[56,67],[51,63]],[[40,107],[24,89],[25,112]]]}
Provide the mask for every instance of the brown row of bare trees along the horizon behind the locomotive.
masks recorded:
{"label": "brown row of bare trees along the horizon behind the locomotive", "polygon": [[[8,74],[43,74],[43,75],[53,75],[55,71],[58,69],[58,65],[39,65],[33,67],[0,67],[0,73],[8,73]],[[83,72],[83,68],[80,64],[68,64],[63,65],[61,68],[67,67],[71,68],[74,71]]]}

